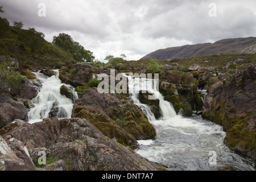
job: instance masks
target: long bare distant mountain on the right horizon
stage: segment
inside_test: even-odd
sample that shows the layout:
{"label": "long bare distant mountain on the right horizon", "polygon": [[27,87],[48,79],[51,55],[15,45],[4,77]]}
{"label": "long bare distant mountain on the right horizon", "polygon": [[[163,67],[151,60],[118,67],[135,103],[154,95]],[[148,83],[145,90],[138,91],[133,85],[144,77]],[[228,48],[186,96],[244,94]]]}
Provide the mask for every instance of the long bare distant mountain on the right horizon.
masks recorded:
{"label": "long bare distant mountain on the right horizon", "polygon": [[256,53],[256,38],[224,39],[215,43],[186,45],[159,49],[142,57],[155,59],[179,59],[196,56],[232,54],[232,53]]}

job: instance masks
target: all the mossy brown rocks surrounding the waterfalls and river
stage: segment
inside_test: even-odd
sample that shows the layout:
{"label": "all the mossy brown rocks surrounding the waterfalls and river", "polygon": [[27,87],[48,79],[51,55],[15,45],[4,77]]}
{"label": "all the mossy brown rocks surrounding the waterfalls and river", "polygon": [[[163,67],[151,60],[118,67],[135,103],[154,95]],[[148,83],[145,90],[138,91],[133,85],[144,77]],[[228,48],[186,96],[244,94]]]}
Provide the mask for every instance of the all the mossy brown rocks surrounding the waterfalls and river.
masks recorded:
{"label": "all the mossy brown rocks surrounding the waterfalls and river", "polygon": [[[10,61],[13,61],[13,68],[9,69],[14,69],[18,61]],[[233,64],[234,61],[236,59]],[[183,117],[203,113],[203,118],[221,125],[227,132],[224,143],[229,148],[255,160],[256,64],[230,74],[197,64],[181,71],[178,63],[164,63],[164,69],[159,72],[159,91],[172,103],[176,113]],[[131,61],[126,70],[119,72],[150,72],[145,66],[133,64]],[[156,130],[143,111],[131,102],[129,94],[99,94],[96,88],[89,87],[89,81],[97,74],[110,76],[109,69],[86,64],[62,67],[60,80],[72,85],[79,93],[79,99],[74,101],[72,118],[45,118],[33,124],[27,123],[27,114],[34,107],[31,100],[42,83],[32,74],[38,70],[19,69],[24,78],[22,86],[18,90],[0,90],[0,169],[166,169],[133,151],[139,147],[137,140],[155,139]],[[52,76],[50,69],[41,72]],[[206,98],[201,95],[200,88],[207,89]],[[60,92],[72,98],[68,89],[63,87]],[[150,94],[141,92],[138,98],[150,106],[155,118],[159,118],[159,100],[144,99]],[[46,153],[48,162],[44,166],[36,164],[40,151]]]}

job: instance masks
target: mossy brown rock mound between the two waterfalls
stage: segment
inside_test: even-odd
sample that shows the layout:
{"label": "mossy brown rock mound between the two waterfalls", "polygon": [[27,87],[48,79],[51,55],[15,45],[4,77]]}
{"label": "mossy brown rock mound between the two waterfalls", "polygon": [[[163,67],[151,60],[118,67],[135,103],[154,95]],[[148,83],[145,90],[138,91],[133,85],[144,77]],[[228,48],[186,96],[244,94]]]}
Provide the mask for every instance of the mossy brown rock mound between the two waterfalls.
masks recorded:
{"label": "mossy brown rock mound between the two waterfalls", "polygon": [[136,139],[153,139],[156,135],[137,105],[120,94],[100,94],[96,88],[85,90],[76,100],[72,117],[87,119],[107,137],[131,147],[137,147]]}

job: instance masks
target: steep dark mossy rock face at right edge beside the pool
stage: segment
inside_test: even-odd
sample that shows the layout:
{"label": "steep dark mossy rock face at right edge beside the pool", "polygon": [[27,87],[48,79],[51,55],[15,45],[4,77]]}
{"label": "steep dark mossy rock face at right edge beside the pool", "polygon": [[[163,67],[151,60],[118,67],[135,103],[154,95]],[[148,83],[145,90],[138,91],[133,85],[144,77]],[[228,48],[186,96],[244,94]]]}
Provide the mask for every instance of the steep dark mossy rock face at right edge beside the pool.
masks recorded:
{"label": "steep dark mossy rock face at right edge beside the pool", "polygon": [[203,117],[223,126],[224,142],[233,150],[256,159],[256,64],[229,81],[212,78]]}

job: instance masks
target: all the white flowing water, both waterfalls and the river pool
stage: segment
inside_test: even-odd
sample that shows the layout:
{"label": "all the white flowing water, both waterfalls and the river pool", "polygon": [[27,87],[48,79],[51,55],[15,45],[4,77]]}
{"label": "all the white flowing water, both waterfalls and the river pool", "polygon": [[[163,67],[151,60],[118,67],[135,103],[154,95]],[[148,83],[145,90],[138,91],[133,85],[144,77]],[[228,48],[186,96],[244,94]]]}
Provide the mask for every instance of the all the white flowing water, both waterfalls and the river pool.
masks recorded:
{"label": "all the white flowing water, both waterfalls and the river pool", "polygon": [[[34,107],[28,113],[29,123],[42,121],[51,113],[60,119],[71,118],[77,93],[73,89],[73,100],[61,95],[60,87],[65,84],[59,79],[59,71],[54,72],[52,77],[35,73],[41,86],[38,96],[32,100]],[[131,101],[141,107],[156,129],[155,140],[138,141],[140,147],[135,150],[138,154],[152,162],[164,164],[168,170],[205,171],[229,165],[243,171],[255,170],[252,160],[237,155],[225,146],[223,140],[226,133],[221,126],[195,114],[191,118],[177,115],[172,104],[165,101],[162,94],[152,86],[151,79],[128,78]],[[154,117],[150,107],[141,104],[139,90],[148,90],[159,99],[160,119]]]}

